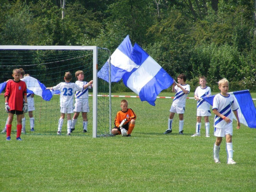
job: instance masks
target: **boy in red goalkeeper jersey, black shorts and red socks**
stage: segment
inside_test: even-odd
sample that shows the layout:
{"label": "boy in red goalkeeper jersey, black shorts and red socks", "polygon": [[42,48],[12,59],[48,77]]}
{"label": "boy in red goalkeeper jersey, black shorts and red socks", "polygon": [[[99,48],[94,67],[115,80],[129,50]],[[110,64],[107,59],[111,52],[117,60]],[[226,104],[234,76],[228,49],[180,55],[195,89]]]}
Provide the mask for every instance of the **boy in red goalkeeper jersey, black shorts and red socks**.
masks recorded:
{"label": "boy in red goalkeeper jersey, black shorts and red socks", "polygon": [[[6,125],[6,140],[11,140],[12,120],[14,114],[17,115],[17,137],[16,140],[21,141],[21,119],[23,111],[28,111],[27,103],[27,87],[24,81],[20,81],[21,71],[14,69],[12,76],[14,80],[8,81],[5,90],[5,110],[8,113],[8,122]],[[25,103],[24,103],[25,101]]]}

